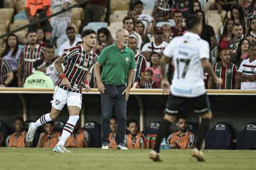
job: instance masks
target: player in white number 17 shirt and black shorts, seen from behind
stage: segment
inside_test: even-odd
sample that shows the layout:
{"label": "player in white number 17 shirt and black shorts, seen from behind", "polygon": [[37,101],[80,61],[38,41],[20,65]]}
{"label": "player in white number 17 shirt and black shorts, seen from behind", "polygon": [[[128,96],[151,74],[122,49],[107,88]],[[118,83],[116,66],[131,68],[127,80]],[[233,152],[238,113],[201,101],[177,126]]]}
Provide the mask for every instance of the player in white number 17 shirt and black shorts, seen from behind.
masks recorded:
{"label": "player in white number 17 shirt and black shorts, seen from behind", "polygon": [[199,35],[202,32],[201,19],[196,15],[189,15],[185,20],[188,32],[183,36],[175,37],[165,48],[161,58],[161,72],[163,75],[161,87],[164,92],[170,92],[170,83],[166,77],[165,65],[174,61],[174,75],[172,79],[171,94],[167,98],[164,110],[164,120],[160,124],[156,145],[150,152],[149,158],[154,161],[161,161],[159,147],[174,123],[180,108],[188,103],[193,106],[194,112],[201,118],[197,131],[197,140],[192,156],[198,161],[204,161],[203,152],[200,150],[205,134],[209,130],[212,112],[209,99],[206,95],[203,80],[203,70],[208,72],[216,84],[221,84],[222,79],[213,72],[209,62],[209,44],[202,40]]}

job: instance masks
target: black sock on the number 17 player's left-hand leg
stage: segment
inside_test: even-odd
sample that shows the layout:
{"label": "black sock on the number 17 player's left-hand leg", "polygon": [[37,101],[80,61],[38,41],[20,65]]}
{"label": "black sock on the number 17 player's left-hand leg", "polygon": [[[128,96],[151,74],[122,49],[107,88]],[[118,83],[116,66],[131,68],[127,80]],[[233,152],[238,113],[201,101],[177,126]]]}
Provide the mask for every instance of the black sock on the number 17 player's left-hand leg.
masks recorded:
{"label": "black sock on the number 17 player's left-hand leg", "polygon": [[159,152],[161,142],[162,142],[163,138],[165,137],[166,133],[169,131],[169,127],[171,124],[172,123],[167,120],[164,120],[160,124],[158,132],[157,132],[157,137],[156,137],[156,145],[154,147],[154,150],[156,152]]}

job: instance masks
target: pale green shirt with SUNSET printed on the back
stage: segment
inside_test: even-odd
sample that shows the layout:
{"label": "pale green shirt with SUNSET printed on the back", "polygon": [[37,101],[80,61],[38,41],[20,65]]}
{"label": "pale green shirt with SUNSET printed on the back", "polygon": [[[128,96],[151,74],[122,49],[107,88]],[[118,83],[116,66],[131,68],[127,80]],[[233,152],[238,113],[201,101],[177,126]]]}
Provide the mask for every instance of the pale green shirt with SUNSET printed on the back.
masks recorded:
{"label": "pale green shirt with SUNSET printed on the back", "polygon": [[54,88],[52,79],[45,75],[44,72],[35,71],[34,74],[29,75],[26,79],[25,88]]}

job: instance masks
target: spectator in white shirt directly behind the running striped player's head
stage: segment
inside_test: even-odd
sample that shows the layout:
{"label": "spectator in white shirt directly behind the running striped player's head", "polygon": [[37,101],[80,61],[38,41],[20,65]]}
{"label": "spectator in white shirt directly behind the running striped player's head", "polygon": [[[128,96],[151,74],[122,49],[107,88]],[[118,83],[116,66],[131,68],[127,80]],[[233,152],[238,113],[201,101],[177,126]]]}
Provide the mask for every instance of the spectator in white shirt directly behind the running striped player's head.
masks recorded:
{"label": "spectator in white shirt directly behind the running striped player's head", "polygon": [[68,40],[60,46],[59,55],[65,53],[69,48],[75,47],[78,41],[82,41],[81,38],[76,37],[76,31],[74,27],[68,26],[66,33]]}

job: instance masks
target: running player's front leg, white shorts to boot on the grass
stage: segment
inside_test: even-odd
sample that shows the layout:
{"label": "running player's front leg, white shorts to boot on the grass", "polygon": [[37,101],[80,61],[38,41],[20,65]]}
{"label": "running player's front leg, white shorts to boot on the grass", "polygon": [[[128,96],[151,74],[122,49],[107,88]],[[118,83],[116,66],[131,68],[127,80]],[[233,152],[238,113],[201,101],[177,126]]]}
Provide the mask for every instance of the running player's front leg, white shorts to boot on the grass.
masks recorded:
{"label": "running player's front leg, white shorts to boot on the grass", "polygon": [[79,120],[79,113],[82,106],[82,94],[68,92],[67,105],[69,118],[67,123],[64,125],[59,142],[53,148],[53,151],[55,152],[70,152],[65,148],[65,142],[68,137],[73,133],[75,125]]}

